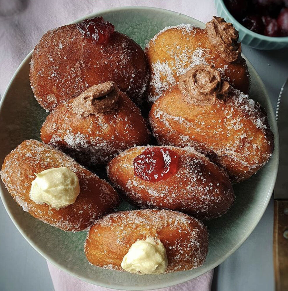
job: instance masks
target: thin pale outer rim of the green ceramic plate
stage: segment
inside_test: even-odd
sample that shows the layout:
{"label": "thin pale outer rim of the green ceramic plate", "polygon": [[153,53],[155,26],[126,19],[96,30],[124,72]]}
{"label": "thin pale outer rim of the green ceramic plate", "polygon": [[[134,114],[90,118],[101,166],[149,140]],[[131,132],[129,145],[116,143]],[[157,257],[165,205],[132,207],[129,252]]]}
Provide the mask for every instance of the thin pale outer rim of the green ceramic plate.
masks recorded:
{"label": "thin pale outer rim of the green ceramic plate", "polygon": [[[82,21],[82,20],[84,20],[86,18],[100,16],[103,13],[117,12],[117,11],[121,11],[121,10],[137,10],[137,9],[139,9],[139,10],[158,10],[159,12],[165,11],[165,13],[170,13],[171,15],[177,15],[177,16],[184,15],[185,17],[188,17],[188,18],[192,19],[193,22],[199,23],[200,26],[205,25],[203,22],[201,22],[201,21],[199,21],[199,20],[197,20],[197,19],[195,19],[193,17],[190,17],[188,15],[185,15],[183,13],[175,12],[175,11],[164,9],[164,8],[151,7],[151,6],[121,6],[121,7],[108,8],[108,9],[105,9],[105,10],[100,10],[100,11],[97,11],[97,12],[90,13],[88,15],[85,15],[84,17],[77,18],[77,19],[73,20],[72,22],[70,22],[69,24],[74,24],[74,23],[80,22],[80,21]],[[5,90],[3,96],[2,96],[2,98],[0,100],[0,115],[1,115],[1,111],[3,110],[3,108],[2,108],[3,107],[3,102],[6,99],[6,95],[8,95],[8,91],[10,90],[12,82],[17,77],[17,74],[22,69],[24,64],[31,58],[33,50],[34,49],[32,49],[29,52],[29,54],[27,54],[27,56],[23,59],[23,61],[20,63],[20,65],[17,67],[16,71],[14,72],[12,78],[10,79],[10,81],[9,81],[7,87],[6,87],[6,90]],[[267,97],[266,98],[266,102],[267,102],[266,111],[269,110],[269,111],[273,112],[274,111],[273,110],[273,106],[272,106],[268,91],[266,89],[266,86],[264,85],[261,77],[259,76],[259,74],[255,70],[254,66],[250,63],[250,61],[243,54],[242,54],[242,56],[245,58],[247,64],[249,65],[249,70],[253,71],[253,75],[257,77],[257,81],[262,85],[262,88],[263,88],[263,91],[265,93],[265,96]],[[245,240],[250,236],[252,231],[255,229],[255,227],[259,223],[260,219],[263,217],[263,214],[264,214],[264,212],[265,212],[265,210],[266,210],[266,208],[268,206],[268,203],[269,203],[269,201],[271,199],[271,196],[272,196],[272,193],[273,193],[273,189],[274,189],[274,185],[275,185],[276,177],[277,177],[277,172],[278,172],[278,165],[279,165],[279,136],[278,136],[278,128],[277,128],[277,123],[276,123],[275,116],[274,116],[274,118],[272,118],[272,120],[269,119],[269,125],[271,125],[271,127],[273,125],[273,128],[275,128],[275,132],[273,132],[273,134],[274,134],[274,145],[275,145],[273,156],[274,156],[274,159],[276,158],[276,166],[277,166],[277,168],[276,168],[276,170],[273,171],[273,175],[272,175],[273,177],[271,177],[271,186],[270,186],[268,194],[266,196],[266,200],[264,201],[263,207],[261,208],[260,215],[258,215],[257,219],[254,220],[254,223],[252,225],[250,225],[250,229],[248,230],[248,232],[245,233],[245,236],[242,237],[242,239],[234,246],[234,248],[232,248],[228,253],[226,253],[224,256],[222,256],[219,260],[217,260],[210,267],[202,269],[201,270],[201,274],[199,274],[197,276],[191,276],[191,278],[188,278],[187,280],[186,279],[184,279],[184,280],[183,279],[180,279],[180,280],[175,279],[172,284],[171,283],[168,283],[168,284],[166,283],[165,286],[160,285],[160,283],[153,283],[148,288],[145,287],[145,289],[143,289],[143,287],[139,287],[139,286],[135,286],[135,287],[133,287],[133,289],[130,289],[131,287],[128,287],[128,288],[125,287],[125,289],[123,289],[124,288],[123,286],[105,285],[103,283],[98,283],[98,282],[96,284],[95,281],[93,281],[93,280],[91,280],[89,278],[84,278],[83,276],[79,276],[76,272],[70,271],[68,268],[63,267],[59,263],[55,262],[55,260],[53,260],[53,258],[50,258],[50,256],[47,255],[45,253],[45,251],[41,250],[40,247],[38,247],[33,241],[31,241],[29,239],[29,237],[24,233],[22,228],[16,223],[13,215],[10,213],[8,203],[6,203],[6,201],[4,199],[4,194],[3,194],[3,191],[1,189],[2,187],[0,187],[0,197],[1,197],[1,200],[2,200],[2,203],[4,205],[4,208],[5,208],[6,212],[8,213],[10,219],[12,220],[12,222],[15,225],[15,227],[17,228],[17,230],[21,233],[21,235],[33,247],[33,249],[35,249],[41,256],[43,256],[43,258],[45,258],[52,265],[54,265],[55,267],[59,268],[60,270],[66,272],[66,273],[68,273],[68,274],[70,274],[70,275],[72,275],[72,276],[74,276],[76,278],[79,278],[80,280],[85,281],[87,283],[90,283],[90,284],[93,284],[93,285],[98,285],[98,286],[101,286],[101,287],[106,287],[106,288],[112,288],[112,289],[116,288],[116,289],[119,289],[119,290],[153,290],[153,289],[158,289],[158,288],[166,288],[166,287],[174,286],[174,285],[177,285],[177,284],[184,283],[184,282],[187,282],[189,280],[192,280],[193,278],[197,278],[198,276],[201,276],[202,274],[210,271],[211,269],[217,267],[222,262],[224,262],[230,255],[232,255],[245,242]]]}

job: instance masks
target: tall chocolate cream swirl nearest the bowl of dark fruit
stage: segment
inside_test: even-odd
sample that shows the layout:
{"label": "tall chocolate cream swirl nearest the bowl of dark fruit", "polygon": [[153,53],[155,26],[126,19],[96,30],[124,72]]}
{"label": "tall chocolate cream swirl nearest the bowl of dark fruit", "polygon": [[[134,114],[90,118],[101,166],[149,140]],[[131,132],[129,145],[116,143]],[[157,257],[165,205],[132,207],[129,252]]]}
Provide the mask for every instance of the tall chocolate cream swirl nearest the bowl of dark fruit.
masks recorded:
{"label": "tall chocolate cream swirl nearest the bowl of dark fruit", "polygon": [[239,33],[232,23],[226,22],[222,17],[213,16],[206,23],[210,42],[215,45],[222,58],[229,63],[237,61],[241,55],[241,43],[238,42]]}

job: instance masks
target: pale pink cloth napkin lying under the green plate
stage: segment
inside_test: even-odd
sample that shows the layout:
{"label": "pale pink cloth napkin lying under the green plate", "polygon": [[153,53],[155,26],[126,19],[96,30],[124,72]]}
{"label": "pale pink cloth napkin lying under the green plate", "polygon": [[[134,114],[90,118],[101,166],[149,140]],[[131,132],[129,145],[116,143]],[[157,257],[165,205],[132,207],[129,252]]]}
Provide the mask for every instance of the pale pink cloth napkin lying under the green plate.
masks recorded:
{"label": "pale pink cloth napkin lying under the green plate", "polygon": [[[177,11],[207,22],[216,15],[213,0],[0,0],[0,94],[25,56],[49,29],[87,14],[118,6],[151,6]],[[48,263],[55,291],[110,291],[81,281]],[[191,281],[162,288],[162,291],[209,291],[213,270]]]}

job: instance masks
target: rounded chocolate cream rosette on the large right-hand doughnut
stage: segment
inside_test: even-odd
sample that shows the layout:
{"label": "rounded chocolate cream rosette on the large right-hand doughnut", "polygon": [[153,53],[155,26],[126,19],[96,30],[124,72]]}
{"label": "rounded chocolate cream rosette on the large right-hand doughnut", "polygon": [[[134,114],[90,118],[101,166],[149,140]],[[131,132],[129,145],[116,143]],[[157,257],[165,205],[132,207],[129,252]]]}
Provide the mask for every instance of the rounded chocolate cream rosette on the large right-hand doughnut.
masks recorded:
{"label": "rounded chocolate cream rosette on the large right-hand doughnut", "polygon": [[223,98],[231,91],[229,83],[221,80],[220,72],[209,65],[196,65],[183,74],[178,88],[184,101],[195,105],[223,102]]}

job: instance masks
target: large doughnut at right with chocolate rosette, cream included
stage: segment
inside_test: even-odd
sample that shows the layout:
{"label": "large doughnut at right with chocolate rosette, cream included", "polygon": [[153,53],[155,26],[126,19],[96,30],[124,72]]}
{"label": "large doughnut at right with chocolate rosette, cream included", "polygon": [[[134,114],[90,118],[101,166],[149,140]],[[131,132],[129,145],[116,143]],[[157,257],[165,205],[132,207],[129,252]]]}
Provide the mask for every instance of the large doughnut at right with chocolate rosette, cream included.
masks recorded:
{"label": "large doughnut at right with chocolate rosette, cream included", "polygon": [[194,147],[233,181],[256,173],[274,149],[264,110],[208,65],[186,72],[153,104],[149,120],[160,144]]}

